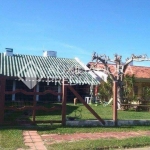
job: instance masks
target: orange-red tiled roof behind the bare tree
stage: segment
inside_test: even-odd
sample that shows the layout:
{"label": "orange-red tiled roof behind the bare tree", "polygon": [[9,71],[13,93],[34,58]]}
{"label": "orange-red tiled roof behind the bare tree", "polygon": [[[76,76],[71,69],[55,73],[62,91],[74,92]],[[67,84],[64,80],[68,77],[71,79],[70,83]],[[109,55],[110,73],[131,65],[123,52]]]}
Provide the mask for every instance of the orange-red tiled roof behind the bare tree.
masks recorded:
{"label": "orange-red tiled roof behind the bare tree", "polygon": [[[88,63],[88,66],[90,67],[92,64],[94,64],[93,62]],[[115,64],[109,64],[108,65],[111,72],[114,75],[116,74],[116,65]],[[104,68],[104,65],[102,63],[98,63],[96,66],[96,69],[102,69]],[[132,66],[132,65],[128,65],[125,74],[129,74],[129,75],[134,75],[135,78],[139,78],[139,79],[150,79],[150,67],[145,67],[145,66]]]}

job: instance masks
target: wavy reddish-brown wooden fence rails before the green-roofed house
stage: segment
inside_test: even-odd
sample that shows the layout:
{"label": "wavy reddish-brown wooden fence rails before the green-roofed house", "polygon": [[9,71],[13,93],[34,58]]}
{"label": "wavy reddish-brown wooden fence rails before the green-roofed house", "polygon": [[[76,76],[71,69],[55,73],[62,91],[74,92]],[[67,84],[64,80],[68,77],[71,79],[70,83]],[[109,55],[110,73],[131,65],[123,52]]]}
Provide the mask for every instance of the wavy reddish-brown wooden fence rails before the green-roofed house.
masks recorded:
{"label": "wavy reddish-brown wooden fence rails before the green-roofed house", "polygon": [[[56,110],[60,110],[62,111],[62,106],[53,106],[51,108],[47,108],[45,106],[37,106],[37,101],[36,101],[36,95],[46,95],[46,94],[52,94],[52,95],[62,95],[62,93],[57,93],[55,91],[52,90],[46,90],[43,92],[28,92],[22,89],[16,89],[15,91],[5,91],[4,94],[8,94],[8,95],[12,95],[12,94],[16,94],[16,93],[22,93],[25,95],[33,95],[33,100],[32,101],[27,101],[27,103],[30,103],[30,105],[25,104],[26,101],[13,101],[13,103],[11,104],[11,106],[4,106],[4,110],[12,110],[12,111],[25,111],[25,110],[30,110],[32,111],[32,117],[33,120],[28,120],[25,121],[25,123],[30,122],[31,124],[35,124],[35,123],[62,123],[62,120],[36,120],[36,111],[41,110],[44,112],[52,112],[52,111],[56,111]],[[16,103],[16,105],[15,105]],[[18,105],[17,105],[18,104]],[[60,113],[61,115],[61,113]],[[14,124],[16,123],[15,121],[6,121],[9,124]],[[5,122],[5,123],[6,123]],[[19,123],[23,123],[24,121],[20,121]]]}

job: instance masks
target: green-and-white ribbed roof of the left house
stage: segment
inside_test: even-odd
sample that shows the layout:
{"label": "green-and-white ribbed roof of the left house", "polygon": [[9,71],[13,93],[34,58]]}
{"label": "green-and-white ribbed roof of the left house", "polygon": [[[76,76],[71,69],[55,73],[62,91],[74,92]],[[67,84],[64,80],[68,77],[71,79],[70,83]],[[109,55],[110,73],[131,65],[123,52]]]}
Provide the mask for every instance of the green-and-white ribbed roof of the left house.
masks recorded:
{"label": "green-and-white ribbed roof of the left house", "polygon": [[0,75],[19,78],[68,79],[72,84],[99,84],[88,72],[74,73],[83,67],[75,59],[31,55],[5,56],[0,53]]}

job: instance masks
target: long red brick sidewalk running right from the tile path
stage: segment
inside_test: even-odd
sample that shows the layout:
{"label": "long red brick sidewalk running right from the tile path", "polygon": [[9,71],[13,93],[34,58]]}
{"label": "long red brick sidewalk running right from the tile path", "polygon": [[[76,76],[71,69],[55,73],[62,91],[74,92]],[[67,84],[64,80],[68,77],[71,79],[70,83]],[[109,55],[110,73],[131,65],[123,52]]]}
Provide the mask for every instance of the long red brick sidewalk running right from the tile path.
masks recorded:
{"label": "long red brick sidewalk running right from the tile path", "polygon": [[74,134],[43,134],[42,139],[46,145],[61,142],[80,141],[85,139],[116,138],[124,139],[138,136],[150,136],[150,131],[137,132],[105,132],[105,133],[74,133]]}

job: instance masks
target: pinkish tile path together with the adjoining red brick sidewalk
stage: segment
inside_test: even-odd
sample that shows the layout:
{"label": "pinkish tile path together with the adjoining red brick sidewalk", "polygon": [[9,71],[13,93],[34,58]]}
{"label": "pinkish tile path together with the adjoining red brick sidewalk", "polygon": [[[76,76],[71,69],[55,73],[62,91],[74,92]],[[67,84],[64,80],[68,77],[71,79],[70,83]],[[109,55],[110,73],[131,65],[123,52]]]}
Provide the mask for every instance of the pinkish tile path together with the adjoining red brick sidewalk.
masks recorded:
{"label": "pinkish tile path together with the adjoining red brick sidewalk", "polygon": [[[45,145],[52,145],[54,143],[79,141],[84,139],[101,139],[101,138],[116,138],[124,139],[129,137],[150,136],[150,131],[137,132],[105,132],[105,133],[74,133],[74,134],[43,134],[39,135],[37,131],[24,131],[24,143],[29,148],[26,150],[47,150]],[[149,150],[150,147],[145,148],[131,148],[128,150]],[[24,149],[17,149],[24,150]],[[118,149],[119,150],[119,149]]]}

